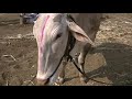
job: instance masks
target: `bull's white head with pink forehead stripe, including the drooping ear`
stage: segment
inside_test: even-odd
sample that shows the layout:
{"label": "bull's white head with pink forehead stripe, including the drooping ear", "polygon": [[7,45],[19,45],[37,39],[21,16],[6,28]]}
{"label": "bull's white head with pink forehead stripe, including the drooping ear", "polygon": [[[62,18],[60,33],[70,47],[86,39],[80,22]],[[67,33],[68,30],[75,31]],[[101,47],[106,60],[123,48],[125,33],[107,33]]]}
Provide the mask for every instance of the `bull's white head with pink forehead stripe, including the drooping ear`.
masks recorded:
{"label": "bull's white head with pink forehead stripe, including the drooping ear", "polygon": [[[72,31],[72,32],[68,32]],[[53,84],[58,77],[58,67],[65,53],[68,33],[81,42],[94,44],[87,34],[74,22],[69,22],[67,14],[41,14],[35,22],[33,33],[38,47],[37,82]]]}

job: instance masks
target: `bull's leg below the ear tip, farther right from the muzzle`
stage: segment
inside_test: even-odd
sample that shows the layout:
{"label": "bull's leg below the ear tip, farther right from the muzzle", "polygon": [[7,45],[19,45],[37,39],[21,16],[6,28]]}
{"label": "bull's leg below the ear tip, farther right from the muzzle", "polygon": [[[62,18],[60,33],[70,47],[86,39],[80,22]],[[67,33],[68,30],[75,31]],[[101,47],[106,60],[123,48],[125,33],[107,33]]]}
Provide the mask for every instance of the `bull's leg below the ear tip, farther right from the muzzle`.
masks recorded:
{"label": "bull's leg below the ear tip, farther right from the muzzle", "polygon": [[[90,47],[91,47],[91,45],[86,44],[86,45],[82,47],[82,50],[81,50],[81,52],[80,52],[80,54],[79,54],[79,56],[78,56],[78,65],[79,65],[81,72],[82,72],[84,74],[85,74],[85,67],[84,67],[84,65],[85,65],[85,58],[86,58],[86,55],[87,55],[87,53],[89,52]],[[86,78],[82,74],[80,74],[80,73],[79,73],[79,77],[80,77],[80,81],[82,81],[82,82],[86,82],[86,81],[87,81],[87,78]]]}

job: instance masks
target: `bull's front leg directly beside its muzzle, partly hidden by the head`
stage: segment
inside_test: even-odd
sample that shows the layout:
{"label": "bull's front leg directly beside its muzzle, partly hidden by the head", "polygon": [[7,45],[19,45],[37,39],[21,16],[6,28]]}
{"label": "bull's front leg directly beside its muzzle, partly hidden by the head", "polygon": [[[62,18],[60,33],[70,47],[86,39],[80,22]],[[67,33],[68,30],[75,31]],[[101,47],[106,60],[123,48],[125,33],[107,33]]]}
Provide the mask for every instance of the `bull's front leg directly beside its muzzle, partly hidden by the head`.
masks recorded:
{"label": "bull's front leg directly beside its muzzle, partly hidden by the head", "polygon": [[63,58],[62,65],[63,66],[62,66],[62,69],[61,69],[61,74],[59,74],[58,79],[57,79],[57,84],[59,84],[59,85],[64,84],[64,81],[65,81],[65,67],[67,65],[67,58],[66,57]]}

